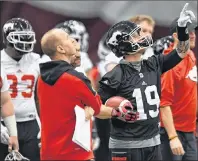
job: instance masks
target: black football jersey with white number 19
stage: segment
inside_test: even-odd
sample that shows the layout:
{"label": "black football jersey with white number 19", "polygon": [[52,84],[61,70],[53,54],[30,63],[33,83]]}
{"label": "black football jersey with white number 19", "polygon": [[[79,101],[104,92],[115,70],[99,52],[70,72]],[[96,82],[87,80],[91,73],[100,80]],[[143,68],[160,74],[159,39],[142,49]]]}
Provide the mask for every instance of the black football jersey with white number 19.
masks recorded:
{"label": "black football jersey with white number 19", "polygon": [[112,96],[131,101],[140,114],[134,123],[112,119],[111,138],[147,140],[159,134],[160,63],[155,56],[139,63],[121,60],[100,81],[99,95],[103,103]]}

